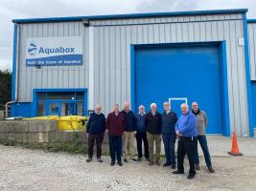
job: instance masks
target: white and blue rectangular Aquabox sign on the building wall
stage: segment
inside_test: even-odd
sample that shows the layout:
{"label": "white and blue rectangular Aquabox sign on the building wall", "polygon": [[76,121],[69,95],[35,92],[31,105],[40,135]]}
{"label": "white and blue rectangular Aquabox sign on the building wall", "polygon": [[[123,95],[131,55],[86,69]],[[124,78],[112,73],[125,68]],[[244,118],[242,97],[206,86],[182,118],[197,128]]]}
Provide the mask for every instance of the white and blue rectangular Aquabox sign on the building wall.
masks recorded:
{"label": "white and blue rectangular Aquabox sign on the building wall", "polygon": [[82,36],[27,38],[26,66],[82,65]]}

